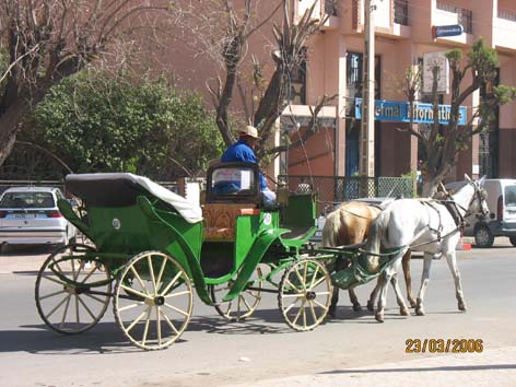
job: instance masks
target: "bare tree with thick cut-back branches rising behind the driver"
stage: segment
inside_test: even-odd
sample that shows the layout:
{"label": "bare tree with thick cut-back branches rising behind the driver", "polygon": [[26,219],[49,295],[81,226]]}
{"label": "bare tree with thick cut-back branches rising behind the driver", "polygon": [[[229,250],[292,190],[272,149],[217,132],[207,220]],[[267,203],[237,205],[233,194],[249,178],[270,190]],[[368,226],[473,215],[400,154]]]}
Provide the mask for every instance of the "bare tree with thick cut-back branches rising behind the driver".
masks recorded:
{"label": "bare tree with thick cut-back branches rising behind the driver", "polygon": [[[277,0],[269,3],[268,13],[259,12],[265,3],[245,0],[243,5],[236,7],[232,0],[209,0],[202,10],[196,5],[177,9],[184,16],[183,30],[191,34],[198,49],[201,47],[202,54],[210,55],[222,70],[222,75],[207,82],[207,86],[224,142],[231,144],[235,140],[228,115],[234,107],[236,92],[236,97],[243,99],[245,119],[260,132],[261,140],[256,149],[258,157],[278,151],[268,150],[267,144],[278,117],[288,104],[292,72],[306,60],[308,39],[326,22],[326,17],[317,20],[313,16],[316,3],[296,23],[292,20],[290,1]],[[257,56],[250,56],[250,66],[246,67],[244,61],[250,37],[258,33],[267,35],[263,31],[266,23],[281,11],[281,24],[274,23],[272,26],[273,71],[268,77],[263,71],[265,64]],[[328,102],[328,97],[322,101]]]}

